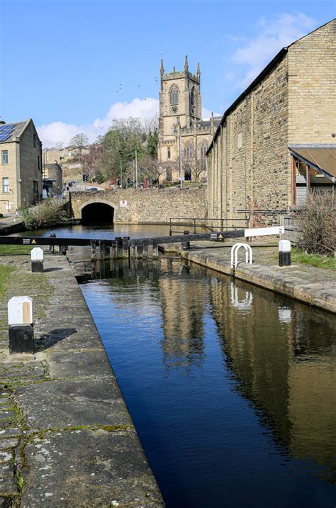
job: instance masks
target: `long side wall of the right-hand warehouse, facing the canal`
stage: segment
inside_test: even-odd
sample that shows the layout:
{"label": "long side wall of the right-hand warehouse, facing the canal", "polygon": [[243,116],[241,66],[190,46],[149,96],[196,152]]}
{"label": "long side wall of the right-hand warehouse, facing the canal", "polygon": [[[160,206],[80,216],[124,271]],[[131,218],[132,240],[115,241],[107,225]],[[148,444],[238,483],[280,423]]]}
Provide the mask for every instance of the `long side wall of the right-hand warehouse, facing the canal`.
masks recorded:
{"label": "long side wall of the right-hand warehouse, facing the canal", "polygon": [[[242,210],[288,204],[287,59],[225,118],[208,158],[208,216],[242,219]],[[229,223],[228,223],[229,224]]]}

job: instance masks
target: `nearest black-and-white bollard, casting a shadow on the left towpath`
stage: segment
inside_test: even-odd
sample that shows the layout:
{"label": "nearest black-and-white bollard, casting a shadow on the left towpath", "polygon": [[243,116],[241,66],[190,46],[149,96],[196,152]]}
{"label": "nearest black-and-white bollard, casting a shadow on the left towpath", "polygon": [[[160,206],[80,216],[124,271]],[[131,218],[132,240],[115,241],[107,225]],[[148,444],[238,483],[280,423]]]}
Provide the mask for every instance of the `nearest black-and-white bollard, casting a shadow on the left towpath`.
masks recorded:
{"label": "nearest black-and-white bollard, casting a shadow on the left towpath", "polygon": [[8,303],[9,353],[33,353],[33,299],[13,297]]}

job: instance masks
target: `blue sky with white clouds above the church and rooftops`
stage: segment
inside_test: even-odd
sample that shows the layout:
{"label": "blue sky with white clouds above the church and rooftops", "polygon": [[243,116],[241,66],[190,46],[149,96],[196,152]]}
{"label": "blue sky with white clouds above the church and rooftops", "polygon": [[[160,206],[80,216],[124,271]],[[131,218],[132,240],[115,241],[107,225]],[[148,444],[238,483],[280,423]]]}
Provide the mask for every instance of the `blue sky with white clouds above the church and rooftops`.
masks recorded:
{"label": "blue sky with white clouds above the church and rooftops", "polygon": [[335,17],[325,0],[0,0],[1,116],[33,118],[47,146],[113,118],[152,116],[159,65],[201,65],[203,116],[226,107],[283,47]]}

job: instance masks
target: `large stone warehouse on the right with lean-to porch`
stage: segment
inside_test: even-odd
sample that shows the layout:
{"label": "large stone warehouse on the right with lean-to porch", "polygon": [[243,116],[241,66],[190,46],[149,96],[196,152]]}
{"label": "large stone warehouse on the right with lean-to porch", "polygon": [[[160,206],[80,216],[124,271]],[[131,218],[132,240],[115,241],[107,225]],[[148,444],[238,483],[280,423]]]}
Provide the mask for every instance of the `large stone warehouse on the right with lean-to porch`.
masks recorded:
{"label": "large stone warehouse on the right with lean-to porch", "polygon": [[333,20],[283,48],[225,111],[207,153],[209,217],[263,222],[335,187],[335,31]]}

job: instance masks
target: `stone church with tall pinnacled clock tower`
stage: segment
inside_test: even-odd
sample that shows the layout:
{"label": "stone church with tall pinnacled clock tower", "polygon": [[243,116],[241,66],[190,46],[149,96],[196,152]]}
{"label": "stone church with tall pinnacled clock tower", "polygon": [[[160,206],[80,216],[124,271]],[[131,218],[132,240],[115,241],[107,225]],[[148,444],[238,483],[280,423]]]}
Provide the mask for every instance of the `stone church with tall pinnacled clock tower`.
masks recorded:
{"label": "stone church with tall pinnacled clock tower", "polygon": [[[201,70],[189,72],[188,58],[184,70],[165,73],[161,61],[159,92],[158,159],[164,179],[177,181],[206,179],[206,150],[220,117],[202,120]],[[181,165],[180,165],[181,153]]]}

